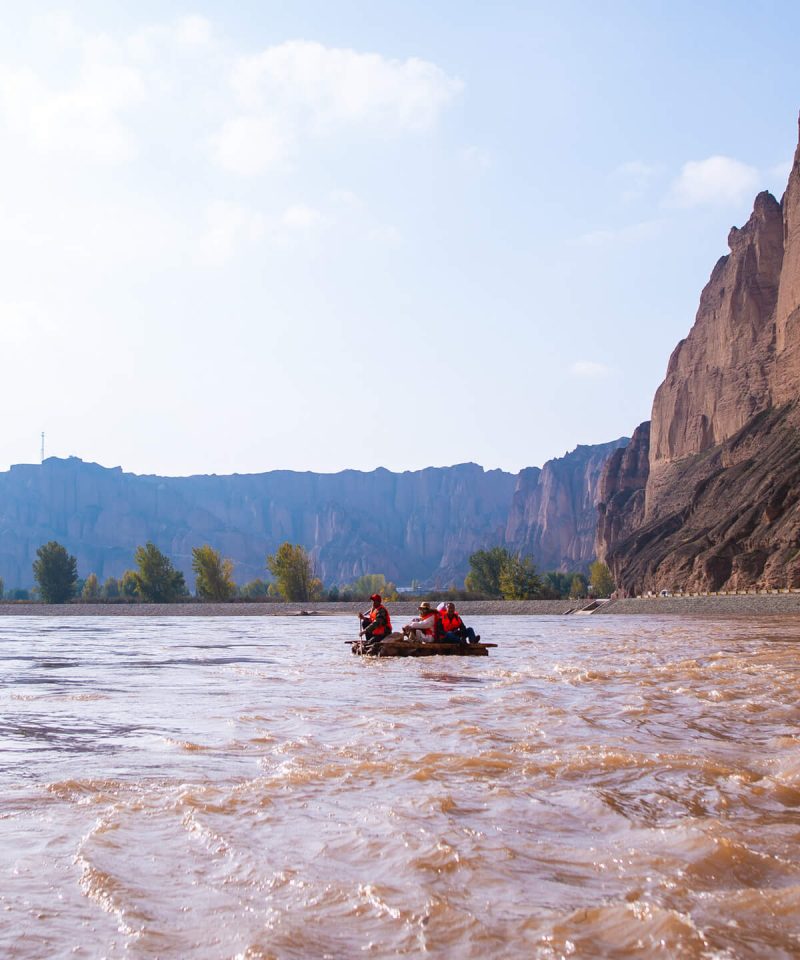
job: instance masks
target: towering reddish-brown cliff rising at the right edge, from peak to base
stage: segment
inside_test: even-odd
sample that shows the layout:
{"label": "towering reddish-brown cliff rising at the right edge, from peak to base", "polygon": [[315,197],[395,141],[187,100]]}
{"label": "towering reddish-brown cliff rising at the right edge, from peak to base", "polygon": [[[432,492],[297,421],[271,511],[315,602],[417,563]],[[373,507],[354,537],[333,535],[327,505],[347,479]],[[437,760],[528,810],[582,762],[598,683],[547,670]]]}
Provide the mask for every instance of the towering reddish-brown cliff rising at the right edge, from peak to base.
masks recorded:
{"label": "towering reddish-brown cliff rising at the right edge, from peak to base", "polygon": [[598,553],[626,594],[796,584],[800,147],[782,203],[759,194],[729,246],[670,358],[649,444],[601,482]]}

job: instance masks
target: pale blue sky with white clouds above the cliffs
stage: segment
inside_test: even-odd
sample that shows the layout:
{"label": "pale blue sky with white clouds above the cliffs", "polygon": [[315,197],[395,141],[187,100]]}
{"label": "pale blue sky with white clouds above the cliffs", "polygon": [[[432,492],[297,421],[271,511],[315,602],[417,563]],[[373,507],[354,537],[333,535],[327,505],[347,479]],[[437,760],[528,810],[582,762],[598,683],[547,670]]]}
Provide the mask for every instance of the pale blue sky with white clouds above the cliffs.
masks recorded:
{"label": "pale blue sky with white clouds above the cliffs", "polygon": [[517,471],[650,415],[800,5],[0,0],[0,469]]}

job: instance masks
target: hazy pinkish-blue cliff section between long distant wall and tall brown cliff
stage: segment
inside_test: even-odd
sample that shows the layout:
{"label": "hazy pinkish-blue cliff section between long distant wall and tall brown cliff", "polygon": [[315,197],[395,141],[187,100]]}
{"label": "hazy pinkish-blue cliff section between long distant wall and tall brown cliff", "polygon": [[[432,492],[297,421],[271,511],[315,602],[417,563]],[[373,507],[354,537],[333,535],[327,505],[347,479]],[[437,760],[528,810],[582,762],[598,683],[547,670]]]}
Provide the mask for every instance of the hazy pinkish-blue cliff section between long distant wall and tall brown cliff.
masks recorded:
{"label": "hazy pinkish-blue cliff section between long distant wall and tall brown cliff", "polygon": [[517,478],[505,531],[510,549],[536,557],[544,570],[586,570],[595,557],[597,501],[603,467],[627,437],[578,446]]}

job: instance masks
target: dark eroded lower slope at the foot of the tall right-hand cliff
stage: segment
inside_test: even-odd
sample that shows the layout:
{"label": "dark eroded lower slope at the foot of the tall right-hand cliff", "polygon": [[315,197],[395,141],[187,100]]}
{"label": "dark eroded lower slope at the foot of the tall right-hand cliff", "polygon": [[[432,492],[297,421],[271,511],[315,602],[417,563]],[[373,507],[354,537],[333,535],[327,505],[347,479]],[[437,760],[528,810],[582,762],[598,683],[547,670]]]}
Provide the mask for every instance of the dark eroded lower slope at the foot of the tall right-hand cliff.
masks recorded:
{"label": "dark eroded lower slope at the foot of the tall right-hand cliff", "polygon": [[[606,562],[623,592],[800,587],[796,405],[764,411],[729,440],[676,464],[669,490],[660,516],[640,515],[633,529],[606,541]],[[606,515],[613,509],[612,500]]]}

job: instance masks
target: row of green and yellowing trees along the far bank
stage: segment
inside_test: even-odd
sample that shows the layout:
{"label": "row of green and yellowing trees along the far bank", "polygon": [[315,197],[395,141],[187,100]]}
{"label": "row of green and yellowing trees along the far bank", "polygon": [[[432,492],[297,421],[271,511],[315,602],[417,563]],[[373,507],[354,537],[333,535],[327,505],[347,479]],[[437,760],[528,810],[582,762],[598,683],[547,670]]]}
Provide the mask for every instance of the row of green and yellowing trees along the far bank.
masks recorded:
{"label": "row of green and yellowing trees along the far bank", "polygon": [[[36,551],[33,575],[39,597],[45,603],[67,603],[75,598],[85,601],[128,601],[174,603],[190,594],[183,573],[152,542],[136,548],[134,568],[119,578],[108,577],[100,583],[95,573],[85,580],[78,577],[78,562],[55,540]],[[530,557],[514,554],[504,547],[477,550],[469,558],[469,573],[464,589],[451,584],[438,591],[453,599],[531,600],[559,597],[608,596],[614,583],[608,567],[595,562],[590,580],[580,572],[550,571],[540,574]],[[299,544],[283,543],[266,558],[271,580],[251,580],[237,586],[233,579],[233,561],[205,544],[192,549],[195,594],[203,600],[224,602],[235,598],[248,600],[282,599],[290,602],[314,600],[365,600],[379,593],[386,600],[399,599],[397,586],[383,574],[364,574],[350,584],[335,584],[327,589],[316,575],[313,561]],[[416,589],[415,589],[416,587]],[[418,585],[412,584],[412,594]],[[14,594],[25,593],[23,597]],[[437,593],[437,591],[434,591]],[[432,595],[428,591],[428,595]],[[0,580],[0,597],[3,583]],[[9,599],[27,599],[27,591],[14,591]]]}

